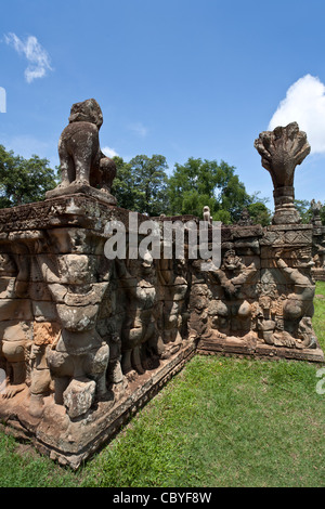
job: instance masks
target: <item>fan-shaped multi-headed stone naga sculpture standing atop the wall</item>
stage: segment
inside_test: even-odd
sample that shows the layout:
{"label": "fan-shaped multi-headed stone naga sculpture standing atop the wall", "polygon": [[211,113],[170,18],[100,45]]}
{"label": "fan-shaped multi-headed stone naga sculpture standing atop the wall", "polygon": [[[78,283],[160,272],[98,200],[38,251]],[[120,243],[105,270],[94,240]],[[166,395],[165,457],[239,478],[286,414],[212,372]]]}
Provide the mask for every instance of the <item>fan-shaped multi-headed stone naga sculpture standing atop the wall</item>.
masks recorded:
{"label": "fan-shaped multi-headed stone naga sculpture standing atop the wall", "polygon": [[261,132],[255,147],[262,158],[262,166],[270,172],[274,185],[274,224],[301,222],[295,207],[294,178],[297,165],[301,165],[311,147],[306,132],[297,122]]}

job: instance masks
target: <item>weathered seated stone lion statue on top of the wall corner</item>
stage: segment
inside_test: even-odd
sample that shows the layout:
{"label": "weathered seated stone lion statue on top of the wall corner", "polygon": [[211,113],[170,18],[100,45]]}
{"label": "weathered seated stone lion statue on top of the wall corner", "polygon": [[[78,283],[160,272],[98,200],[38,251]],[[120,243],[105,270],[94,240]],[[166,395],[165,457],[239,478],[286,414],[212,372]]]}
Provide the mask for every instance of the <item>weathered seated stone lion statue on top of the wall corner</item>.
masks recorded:
{"label": "weathered seated stone lion statue on top of the wall corner", "polygon": [[72,106],[69,123],[58,141],[62,182],[47,193],[47,198],[78,192],[103,198],[93,191],[95,188],[106,195],[106,201],[116,203],[110,195],[116,166],[100,148],[102,123],[103,114],[94,99]]}

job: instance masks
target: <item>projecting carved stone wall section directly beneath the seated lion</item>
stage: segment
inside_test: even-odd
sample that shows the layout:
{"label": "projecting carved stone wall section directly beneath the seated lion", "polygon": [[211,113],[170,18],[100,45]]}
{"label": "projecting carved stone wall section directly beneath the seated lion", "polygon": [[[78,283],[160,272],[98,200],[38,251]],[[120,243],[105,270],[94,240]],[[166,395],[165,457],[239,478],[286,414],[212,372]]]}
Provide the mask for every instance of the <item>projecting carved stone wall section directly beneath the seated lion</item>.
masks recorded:
{"label": "projecting carved stone wall section directly beneath the seated lion", "polygon": [[0,417],[73,467],[195,352],[186,266],[108,260],[113,220],[128,234],[128,211],[82,195],[0,211]]}

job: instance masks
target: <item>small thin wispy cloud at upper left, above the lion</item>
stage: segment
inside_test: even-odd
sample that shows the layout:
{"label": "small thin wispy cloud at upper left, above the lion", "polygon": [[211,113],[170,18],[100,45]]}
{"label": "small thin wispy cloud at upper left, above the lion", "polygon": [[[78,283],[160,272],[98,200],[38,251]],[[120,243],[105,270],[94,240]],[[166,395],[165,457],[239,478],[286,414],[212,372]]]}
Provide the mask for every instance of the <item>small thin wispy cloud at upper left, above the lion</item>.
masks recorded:
{"label": "small thin wispy cloud at upper left, above the lion", "polygon": [[8,34],[4,36],[4,40],[17,53],[26,56],[28,67],[25,69],[25,78],[28,83],[31,83],[37,78],[43,78],[48,70],[52,70],[50,56],[36,37],[29,36],[26,41],[23,41],[15,34]]}

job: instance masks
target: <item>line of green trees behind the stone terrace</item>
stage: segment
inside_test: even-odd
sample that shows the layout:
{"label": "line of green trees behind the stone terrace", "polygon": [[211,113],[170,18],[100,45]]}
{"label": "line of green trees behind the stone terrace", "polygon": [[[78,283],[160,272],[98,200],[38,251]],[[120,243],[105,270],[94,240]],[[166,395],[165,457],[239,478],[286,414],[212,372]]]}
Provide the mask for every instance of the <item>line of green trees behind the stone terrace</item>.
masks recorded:
{"label": "line of green trees behind the stone terrace", "polygon": [[[190,157],[184,165],[176,164],[168,177],[166,158],[138,155],[129,162],[114,158],[117,175],[112,194],[117,204],[128,210],[157,217],[193,214],[203,217],[203,208],[209,206],[214,221],[225,224],[237,222],[247,209],[250,218],[263,226],[271,223],[271,211],[258,193],[249,195],[235,168],[223,160]],[[0,208],[39,201],[46,192],[55,187],[55,172],[48,159],[32,156],[24,159],[0,145]],[[302,222],[311,220],[308,200],[296,200]],[[325,206],[321,210],[325,223]]]}

